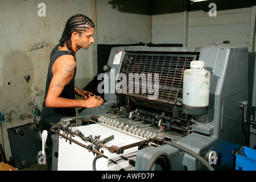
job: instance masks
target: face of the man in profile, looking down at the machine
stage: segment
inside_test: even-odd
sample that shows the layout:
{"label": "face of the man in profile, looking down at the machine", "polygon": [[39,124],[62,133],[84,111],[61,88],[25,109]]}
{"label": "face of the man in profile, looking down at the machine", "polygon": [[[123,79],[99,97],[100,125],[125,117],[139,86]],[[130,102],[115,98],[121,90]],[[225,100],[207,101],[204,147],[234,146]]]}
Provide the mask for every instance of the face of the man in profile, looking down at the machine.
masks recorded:
{"label": "face of the man in profile, looking down at the machine", "polygon": [[94,27],[89,28],[86,32],[82,32],[79,35],[79,38],[77,39],[77,48],[83,48],[83,49],[88,49],[90,45],[94,42],[93,39],[93,34],[94,34]]}

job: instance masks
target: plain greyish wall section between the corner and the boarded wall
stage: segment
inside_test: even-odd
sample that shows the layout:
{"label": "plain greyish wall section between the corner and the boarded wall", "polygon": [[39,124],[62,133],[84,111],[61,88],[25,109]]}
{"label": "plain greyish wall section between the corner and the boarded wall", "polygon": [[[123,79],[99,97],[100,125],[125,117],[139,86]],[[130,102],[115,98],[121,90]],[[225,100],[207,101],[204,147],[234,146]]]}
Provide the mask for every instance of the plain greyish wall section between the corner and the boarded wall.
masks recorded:
{"label": "plain greyish wall section between the corner and the boarded wall", "polygon": [[147,43],[145,0],[96,1],[98,44]]}

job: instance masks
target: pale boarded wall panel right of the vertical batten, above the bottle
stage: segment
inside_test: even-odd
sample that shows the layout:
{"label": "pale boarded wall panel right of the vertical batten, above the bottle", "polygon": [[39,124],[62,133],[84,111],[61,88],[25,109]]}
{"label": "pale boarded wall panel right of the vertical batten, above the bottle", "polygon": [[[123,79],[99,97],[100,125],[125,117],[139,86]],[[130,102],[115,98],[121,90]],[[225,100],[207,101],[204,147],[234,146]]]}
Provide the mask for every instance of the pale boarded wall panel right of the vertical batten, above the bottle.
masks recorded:
{"label": "pale boarded wall panel right of the vertical batten, above the bottle", "polygon": [[248,46],[251,7],[217,11],[210,17],[202,11],[189,12],[188,46],[214,46],[216,42],[230,40],[229,46]]}

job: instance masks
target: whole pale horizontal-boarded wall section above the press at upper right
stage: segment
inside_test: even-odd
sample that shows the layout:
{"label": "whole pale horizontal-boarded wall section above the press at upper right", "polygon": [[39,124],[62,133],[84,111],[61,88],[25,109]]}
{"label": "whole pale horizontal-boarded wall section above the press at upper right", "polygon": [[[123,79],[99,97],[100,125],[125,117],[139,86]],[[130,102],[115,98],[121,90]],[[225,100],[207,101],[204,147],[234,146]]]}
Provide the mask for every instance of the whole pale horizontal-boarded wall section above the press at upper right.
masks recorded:
{"label": "whole pale horizontal-boarded wall section above the press at upper right", "polygon": [[[163,3],[162,6],[166,5]],[[230,40],[230,44],[222,45],[250,47],[253,44],[250,43],[250,38],[255,36],[255,29],[251,28],[251,20],[255,14],[253,7],[224,10],[218,10],[218,7],[220,6],[217,4],[217,16],[212,17],[207,9],[152,15],[152,43],[205,47],[215,46],[218,41]],[[187,27],[187,32],[184,26]]]}

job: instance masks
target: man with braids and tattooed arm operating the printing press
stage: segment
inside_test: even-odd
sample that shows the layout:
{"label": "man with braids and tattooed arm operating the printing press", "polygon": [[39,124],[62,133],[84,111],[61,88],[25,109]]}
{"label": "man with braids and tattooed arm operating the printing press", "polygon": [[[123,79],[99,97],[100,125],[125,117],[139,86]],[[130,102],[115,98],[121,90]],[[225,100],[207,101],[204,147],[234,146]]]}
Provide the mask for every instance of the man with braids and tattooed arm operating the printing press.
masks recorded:
{"label": "man with braids and tattooed arm operating the printing press", "polygon": [[[104,104],[99,96],[75,86],[76,52],[88,49],[94,42],[94,24],[87,16],[77,14],[68,19],[60,44],[53,48],[50,56],[46,93],[41,112],[41,131],[47,130],[46,145],[51,149],[53,134],[50,123],[58,123],[61,118],[75,117],[76,107],[95,107]],[[83,100],[75,100],[75,94]],[[47,158],[51,169],[51,151]],[[49,159],[49,160],[48,160]]]}

